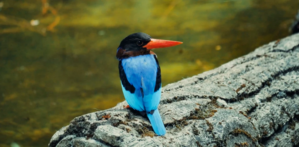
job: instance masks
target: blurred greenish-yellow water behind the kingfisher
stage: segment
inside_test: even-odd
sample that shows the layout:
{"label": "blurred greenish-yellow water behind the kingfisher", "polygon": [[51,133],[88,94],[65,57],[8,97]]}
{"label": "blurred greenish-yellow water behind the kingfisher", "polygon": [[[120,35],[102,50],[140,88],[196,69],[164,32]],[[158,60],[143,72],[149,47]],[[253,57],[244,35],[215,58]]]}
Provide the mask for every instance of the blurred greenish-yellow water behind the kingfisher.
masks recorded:
{"label": "blurred greenish-yellow water behind the kingfisher", "polygon": [[115,58],[135,32],[184,42],[153,50],[162,86],[289,35],[298,0],[0,0],[0,146],[48,146],[80,115],[124,101]]}

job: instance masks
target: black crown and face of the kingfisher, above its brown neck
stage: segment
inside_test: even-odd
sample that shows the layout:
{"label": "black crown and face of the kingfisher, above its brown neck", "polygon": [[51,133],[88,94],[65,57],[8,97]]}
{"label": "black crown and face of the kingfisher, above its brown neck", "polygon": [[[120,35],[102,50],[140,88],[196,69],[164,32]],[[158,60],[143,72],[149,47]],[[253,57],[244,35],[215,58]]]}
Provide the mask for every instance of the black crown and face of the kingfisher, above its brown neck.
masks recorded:
{"label": "black crown and face of the kingfisher, above its brown neck", "polygon": [[124,38],[118,48],[126,51],[140,51],[147,50],[144,45],[147,45],[151,41],[151,36],[146,33],[133,33]]}

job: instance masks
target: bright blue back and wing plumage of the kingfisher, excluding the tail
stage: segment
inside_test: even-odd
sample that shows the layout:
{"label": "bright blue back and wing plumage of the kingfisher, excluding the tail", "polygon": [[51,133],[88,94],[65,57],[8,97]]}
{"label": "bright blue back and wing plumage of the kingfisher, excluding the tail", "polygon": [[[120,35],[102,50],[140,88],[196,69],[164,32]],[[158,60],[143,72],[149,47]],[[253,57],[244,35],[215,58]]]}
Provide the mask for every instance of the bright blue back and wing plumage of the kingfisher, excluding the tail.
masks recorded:
{"label": "bright blue back and wing plumage of the kingfisher, excluding the tail", "polygon": [[126,91],[122,83],[123,94],[129,106],[138,111],[156,110],[161,99],[161,85],[159,90],[154,92],[159,68],[154,55],[123,59],[121,65],[128,82],[135,87],[135,92],[131,93]]}

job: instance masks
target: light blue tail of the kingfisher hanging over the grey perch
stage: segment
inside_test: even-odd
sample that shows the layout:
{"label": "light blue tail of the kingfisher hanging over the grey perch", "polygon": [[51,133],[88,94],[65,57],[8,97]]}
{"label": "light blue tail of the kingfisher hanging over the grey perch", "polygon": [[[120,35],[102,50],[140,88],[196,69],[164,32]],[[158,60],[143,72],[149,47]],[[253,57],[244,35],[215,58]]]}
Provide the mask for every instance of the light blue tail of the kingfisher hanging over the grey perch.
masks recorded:
{"label": "light blue tail of the kingfisher hanging over the grey perch", "polygon": [[156,109],[153,114],[148,113],[147,117],[149,118],[152,128],[157,135],[162,136],[166,134],[166,129],[158,109]]}

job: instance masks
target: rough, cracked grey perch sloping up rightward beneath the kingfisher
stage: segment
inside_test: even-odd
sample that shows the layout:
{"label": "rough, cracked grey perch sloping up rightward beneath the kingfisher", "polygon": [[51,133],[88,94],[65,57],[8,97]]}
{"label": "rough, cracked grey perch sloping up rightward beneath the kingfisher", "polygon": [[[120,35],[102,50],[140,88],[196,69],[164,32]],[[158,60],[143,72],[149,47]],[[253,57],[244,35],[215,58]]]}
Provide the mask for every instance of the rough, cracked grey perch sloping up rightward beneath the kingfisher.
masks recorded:
{"label": "rough, cracked grey perch sloping up rightward beneath the kingfisher", "polygon": [[123,105],[74,118],[48,146],[298,146],[299,34],[163,87],[165,136]]}

